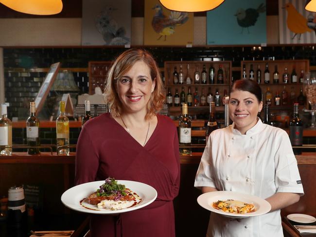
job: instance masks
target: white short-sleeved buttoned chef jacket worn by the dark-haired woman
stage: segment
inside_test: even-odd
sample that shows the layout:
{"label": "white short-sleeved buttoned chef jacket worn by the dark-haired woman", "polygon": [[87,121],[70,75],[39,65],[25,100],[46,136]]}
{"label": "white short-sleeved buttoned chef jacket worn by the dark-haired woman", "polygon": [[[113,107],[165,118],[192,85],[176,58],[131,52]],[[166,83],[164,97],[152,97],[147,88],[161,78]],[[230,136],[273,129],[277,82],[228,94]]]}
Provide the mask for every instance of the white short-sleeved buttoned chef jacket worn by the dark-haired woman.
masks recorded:
{"label": "white short-sleeved buttoned chef jacket worn by the dark-haired woman", "polygon": [[[242,135],[234,123],[211,133],[195,176],[195,187],[215,187],[266,199],[277,192],[304,194],[287,133],[257,124]],[[211,213],[209,237],[281,237],[280,210],[243,219]]]}

